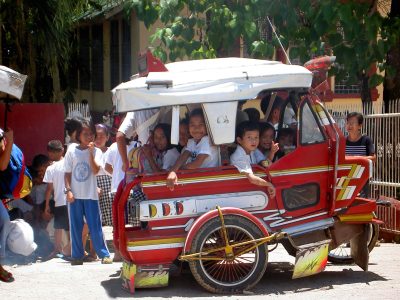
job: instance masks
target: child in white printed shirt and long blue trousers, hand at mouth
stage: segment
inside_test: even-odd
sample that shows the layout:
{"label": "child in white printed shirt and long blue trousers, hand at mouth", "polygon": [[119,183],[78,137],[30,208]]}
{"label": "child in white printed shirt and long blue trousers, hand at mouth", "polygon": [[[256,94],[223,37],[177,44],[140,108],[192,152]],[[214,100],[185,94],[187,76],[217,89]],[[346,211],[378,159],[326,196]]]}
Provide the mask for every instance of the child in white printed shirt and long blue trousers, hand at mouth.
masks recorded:
{"label": "child in white printed shirt and long blue trousers, hand at mouth", "polygon": [[82,243],[83,218],[89,226],[90,237],[97,255],[103,264],[110,264],[110,252],[104,241],[101,227],[99,195],[96,174],[100,170],[101,150],[94,146],[94,130],[88,121],[82,120],[78,128],[79,145],[70,147],[65,155],[65,193],[69,202],[71,228],[72,265],[82,265],[84,249]]}

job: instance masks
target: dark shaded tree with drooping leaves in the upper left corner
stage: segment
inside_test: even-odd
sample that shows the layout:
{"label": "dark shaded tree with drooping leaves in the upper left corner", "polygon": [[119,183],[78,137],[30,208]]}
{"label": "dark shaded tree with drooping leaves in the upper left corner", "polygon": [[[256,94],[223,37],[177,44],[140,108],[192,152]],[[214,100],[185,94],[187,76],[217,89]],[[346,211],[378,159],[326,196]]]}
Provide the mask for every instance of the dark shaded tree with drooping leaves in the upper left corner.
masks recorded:
{"label": "dark shaded tree with drooping leaves in the upper left corner", "polygon": [[0,0],[0,63],[28,75],[24,101],[62,100],[75,21],[97,2]]}

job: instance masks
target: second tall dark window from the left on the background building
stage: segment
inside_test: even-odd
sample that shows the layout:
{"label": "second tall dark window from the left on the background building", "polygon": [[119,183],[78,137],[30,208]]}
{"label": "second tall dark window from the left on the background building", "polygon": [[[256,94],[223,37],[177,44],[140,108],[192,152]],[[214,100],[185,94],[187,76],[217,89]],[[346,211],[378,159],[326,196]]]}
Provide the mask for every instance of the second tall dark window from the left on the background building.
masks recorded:
{"label": "second tall dark window from the left on the background building", "polygon": [[104,90],[103,25],[92,26],[92,90]]}

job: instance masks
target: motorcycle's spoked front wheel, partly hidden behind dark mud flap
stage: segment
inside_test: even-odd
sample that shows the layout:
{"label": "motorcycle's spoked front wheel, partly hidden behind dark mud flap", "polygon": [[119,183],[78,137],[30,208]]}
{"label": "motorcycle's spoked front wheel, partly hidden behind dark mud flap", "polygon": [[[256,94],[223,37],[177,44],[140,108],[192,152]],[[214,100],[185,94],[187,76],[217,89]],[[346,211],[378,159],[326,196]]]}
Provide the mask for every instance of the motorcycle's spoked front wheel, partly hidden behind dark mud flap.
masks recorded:
{"label": "motorcycle's spoked front wheel, partly hidden behind dark mud flap", "polygon": [[[368,250],[369,252],[374,249],[379,236],[379,225],[369,224],[369,238],[368,238]],[[337,248],[331,250],[328,254],[328,261],[336,264],[350,264],[353,263],[351,257],[350,243],[344,243]]]}

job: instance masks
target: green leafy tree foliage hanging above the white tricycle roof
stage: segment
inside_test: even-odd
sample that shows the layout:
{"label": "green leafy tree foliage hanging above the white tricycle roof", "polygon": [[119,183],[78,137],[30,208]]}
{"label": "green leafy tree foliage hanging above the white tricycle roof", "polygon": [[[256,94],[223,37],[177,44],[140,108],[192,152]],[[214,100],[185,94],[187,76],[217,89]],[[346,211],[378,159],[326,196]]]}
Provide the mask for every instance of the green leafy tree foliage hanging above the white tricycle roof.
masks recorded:
{"label": "green leafy tree foliage hanging above the white tricycle roof", "polygon": [[[362,84],[362,98],[383,81],[374,72],[394,74],[386,54],[399,43],[400,20],[382,16],[377,0],[161,0],[128,1],[146,26],[158,18],[152,36],[162,60],[210,58],[237,53],[239,42],[252,57],[272,58],[275,36],[262,32],[273,22],[284,48],[301,62],[314,55],[335,55],[332,75]],[[151,12],[151,13],[148,13]],[[236,50],[236,52],[235,52]]]}

